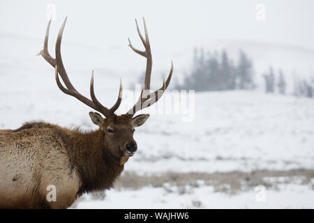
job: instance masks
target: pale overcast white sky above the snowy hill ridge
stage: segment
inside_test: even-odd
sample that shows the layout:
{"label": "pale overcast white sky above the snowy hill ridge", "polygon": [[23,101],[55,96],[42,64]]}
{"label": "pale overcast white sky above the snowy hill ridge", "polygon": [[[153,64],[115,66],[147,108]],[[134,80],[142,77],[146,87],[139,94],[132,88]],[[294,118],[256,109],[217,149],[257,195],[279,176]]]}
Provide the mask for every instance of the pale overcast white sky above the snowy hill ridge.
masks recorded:
{"label": "pale overcast white sky above the snowy hill ridge", "polygon": [[[42,38],[46,6],[57,6],[57,24],[68,15],[77,42],[93,35],[94,43],[126,44],[134,18],[144,16],[150,35],[172,47],[202,45],[210,40],[244,39],[314,49],[314,1],[0,1],[0,32]],[[264,3],[266,21],[255,19]],[[81,31],[80,31],[81,30]]]}

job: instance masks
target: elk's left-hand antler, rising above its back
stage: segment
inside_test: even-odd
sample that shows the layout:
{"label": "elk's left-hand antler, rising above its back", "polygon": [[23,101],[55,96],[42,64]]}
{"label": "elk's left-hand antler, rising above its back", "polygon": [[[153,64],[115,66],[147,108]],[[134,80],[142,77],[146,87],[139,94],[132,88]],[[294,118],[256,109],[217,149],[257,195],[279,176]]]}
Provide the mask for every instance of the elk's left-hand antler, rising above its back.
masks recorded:
{"label": "elk's left-hand antler, rising above its back", "polygon": [[[66,18],[67,19],[67,18]],[[39,52],[38,55],[43,56],[43,58],[50,63],[51,66],[55,69],[55,75],[56,75],[56,81],[59,89],[66,93],[67,95],[71,95],[74,98],[77,98],[81,102],[83,102],[85,105],[91,107],[92,109],[95,109],[96,111],[103,114],[106,118],[115,116],[114,112],[118,109],[121,100],[122,100],[122,84],[120,79],[120,88],[119,88],[119,97],[117,99],[117,102],[112,106],[110,109],[107,109],[107,107],[100,104],[100,102],[97,100],[95,93],[94,93],[94,71],[91,74],[91,100],[84,97],[80,92],[78,92],[75,87],[71,84],[70,79],[68,78],[68,75],[66,73],[66,69],[63,66],[62,58],[61,58],[61,39],[63,35],[63,29],[66,26],[66,19],[64,20],[58,34],[57,42],[56,42],[56,59],[54,59],[52,56],[50,56],[50,53],[48,52],[48,38],[49,38],[49,29],[51,20],[48,23],[46,35],[45,35],[45,42],[43,46],[43,50]],[[63,80],[63,83],[66,85],[64,87],[59,79],[59,75],[61,79]]]}

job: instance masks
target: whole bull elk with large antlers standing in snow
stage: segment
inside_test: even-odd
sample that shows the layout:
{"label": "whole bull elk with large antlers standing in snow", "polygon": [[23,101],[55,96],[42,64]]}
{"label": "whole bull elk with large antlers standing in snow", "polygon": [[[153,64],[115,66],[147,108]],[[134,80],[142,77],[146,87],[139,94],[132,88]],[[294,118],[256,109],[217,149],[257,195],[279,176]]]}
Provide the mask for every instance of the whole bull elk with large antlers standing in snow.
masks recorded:
{"label": "whole bull elk with large antlers standing in snow", "polygon": [[[135,105],[126,114],[116,115],[114,112],[122,97],[121,80],[119,97],[110,109],[96,98],[93,73],[91,100],[78,92],[71,84],[61,59],[61,38],[66,20],[57,36],[55,59],[50,56],[47,47],[50,22],[43,50],[39,54],[54,67],[57,86],[63,93],[77,98],[105,117],[89,112],[91,121],[99,127],[91,132],[45,122],[24,123],[17,130],[0,130],[0,208],[68,208],[83,193],[112,187],[128,158],[137,151],[134,128],[143,125],[149,118],[149,114],[133,115],[157,102],[172,77],[173,65],[167,80],[163,80],[163,86],[149,92],[152,68],[149,36],[144,18],[144,36],[135,20],[144,51],[133,47],[130,39],[128,41],[134,52],[147,59],[144,87]],[[55,186],[56,201],[47,200],[48,185]]]}

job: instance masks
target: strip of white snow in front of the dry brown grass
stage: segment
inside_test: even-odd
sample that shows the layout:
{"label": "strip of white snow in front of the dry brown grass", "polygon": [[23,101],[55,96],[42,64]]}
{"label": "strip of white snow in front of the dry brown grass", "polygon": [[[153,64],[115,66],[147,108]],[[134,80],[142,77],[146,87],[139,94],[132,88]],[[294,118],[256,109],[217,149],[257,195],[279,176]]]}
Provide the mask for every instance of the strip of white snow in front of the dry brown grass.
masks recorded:
{"label": "strip of white snow in front of the dry brown grass", "polygon": [[314,200],[313,188],[300,185],[281,185],[279,191],[266,190],[264,199],[257,199],[255,190],[230,195],[214,192],[211,186],[199,187],[186,194],[167,192],[163,187],[106,194],[103,201],[87,195],[76,208],[313,208]]}

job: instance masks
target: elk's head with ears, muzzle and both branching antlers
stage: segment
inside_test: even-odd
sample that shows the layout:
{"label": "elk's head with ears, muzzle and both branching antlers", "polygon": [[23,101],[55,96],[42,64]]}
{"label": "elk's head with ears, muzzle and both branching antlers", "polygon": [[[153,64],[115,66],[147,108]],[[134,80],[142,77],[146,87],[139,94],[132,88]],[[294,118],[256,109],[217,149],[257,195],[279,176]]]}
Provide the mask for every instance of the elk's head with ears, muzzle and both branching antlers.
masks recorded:
{"label": "elk's head with ears, muzzle and both branching antlers", "polygon": [[[61,59],[61,38],[63,35],[63,29],[66,25],[66,20],[64,20],[61,29],[59,31],[58,37],[57,37],[57,43],[56,43],[56,58],[52,58],[50,56],[50,53],[48,52],[48,37],[49,37],[49,30],[50,30],[50,23],[48,23],[46,35],[45,35],[45,42],[43,50],[40,51],[40,55],[43,56],[43,58],[50,63],[54,67],[55,70],[55,78],[57,81],[57,85],[59,86],[59,89],[63,91],[63,93],[66,93],[68,95],[71,95],[81,102],[83,102],[85,105],[91,107],[92,109],[96,110],[100,114],[103,114],[105,118],[103,118],[99,113],[97,112],[89,112],[89,116],[91,117],[91,121],[95,125],[98,125],[100,130],[103,131],[103,137],[104,137],[104,146],[112,153],[112,155],[116,157],[129,157],[134,155],[135,151],[137,151],[137,144],[135,140],[133,139],[133,133],[134,128],[139,127],[140,125],[144,124],[145,121],[147,121],[147,118],[149,118],[149,114],[140,114],[138,116],[133,117],[133,115],[140,111],[141,109],[144,109],[146,107],[149,107],[151,105],[154,105],[155,102],[158,101],[158,99],[163,95],[165,89],[167,89],[167,86],[170,83],[170,79],[172,77],[173,72],[173,64],[171,63],[171,70],[170,74],[167,77],[167,81],[165,79],[163,80],[163,86],[160,87],[160,89],[149,92],[150,89],[150,82],[151,82],[151,68],[152,68],[152,58],[151,58],[151,46],[149,43],[149,36],[147,33],[147,26],[145,24],[145,20],[143,18],[144,22],[144,31],[145,31],[145,38],[142,36],[142,33],[140,32],[139,26],[136,22],[137,26],[137,33],[140,36],[140,39],[142,40],[142,43],[144,45],[144,51],[141,51],[139,49],[136,49],[133,47],[133,45],[129,41],[129,46],[131,49],[133,49],[134,52],[137,54],[140,54],[141,56],[144,56],[147,59],[147,67],[146,67],[146,73],[145,73],[145,79],[144,79],[144,87],[142,89],[142,92],[140,94],[140,98],[137,100],[135,105],[126,113],[117,116],[114,114],[114,112],[118,109],[121,99],[122,99],[122,85],[121,85],[121,79],[120,79],[120,88],[119,88],[119,96],[117,99],[117,102],[108,109],[107,107],[101,105],[101,103],[96,98],[96,95],[94,93],[94,71],[91,75],[91,86],[90,86],[90,94],[91,94],[91,100],[89,98],[86,98],[84,95],[79,93],[75,87],[71,84],[70,79],[68,78],[68,75],[66,73],[66,69],[63,66],[63,62]],[[66,86],[63,86],[60,82],[59,76],[63,80],[63,83]]]}

